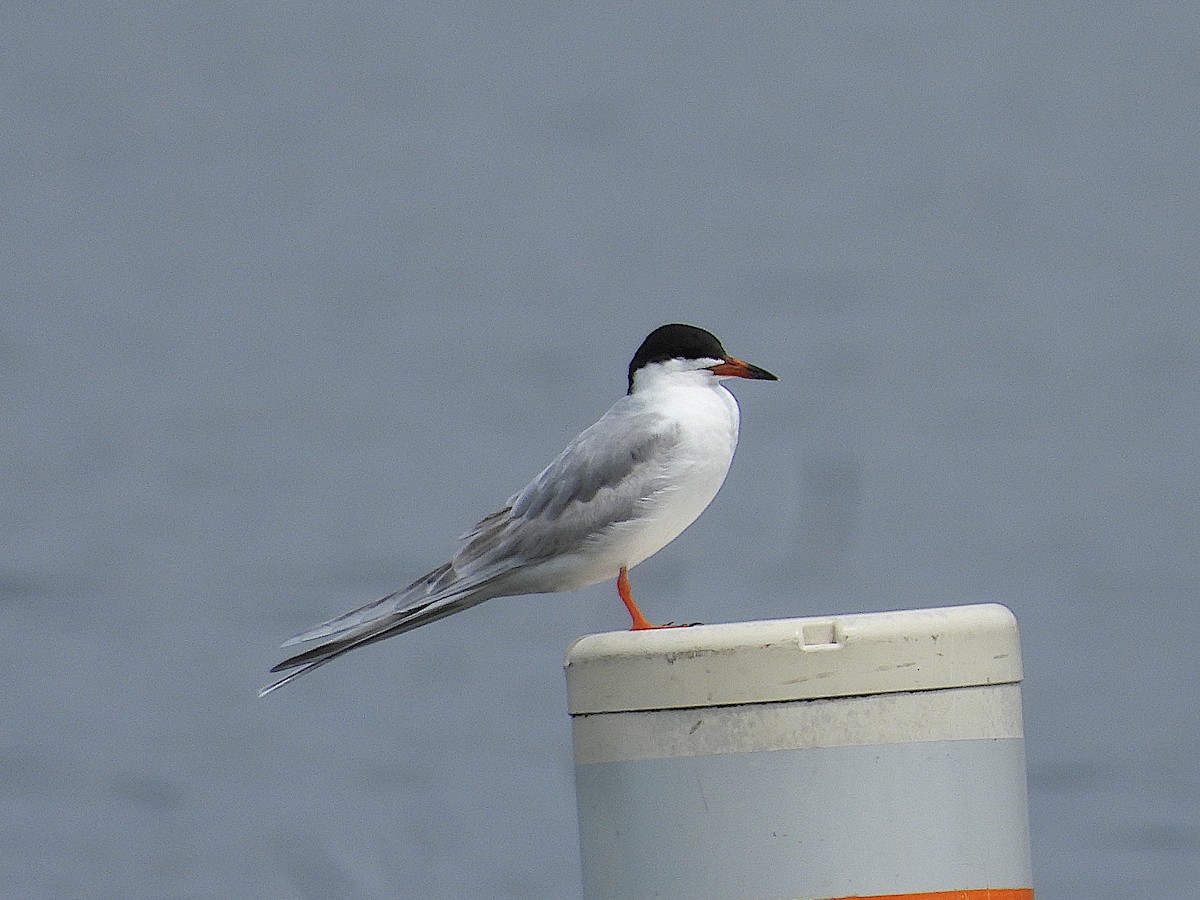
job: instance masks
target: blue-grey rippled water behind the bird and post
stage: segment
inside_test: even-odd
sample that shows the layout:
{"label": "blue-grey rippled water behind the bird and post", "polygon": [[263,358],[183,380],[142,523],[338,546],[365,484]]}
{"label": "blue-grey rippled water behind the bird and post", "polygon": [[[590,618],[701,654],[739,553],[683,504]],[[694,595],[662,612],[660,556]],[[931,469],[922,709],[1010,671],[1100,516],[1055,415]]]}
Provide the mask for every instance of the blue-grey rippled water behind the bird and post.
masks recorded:
{"label": "blue-grey rippled water behind the bird and post", "polygon": [[683,320],[775,371],[653,618],[996,600],[1039,900],[1200,882],[1200,5],[6,4],[0,895],[571,898],[493,601],[259,701]]}

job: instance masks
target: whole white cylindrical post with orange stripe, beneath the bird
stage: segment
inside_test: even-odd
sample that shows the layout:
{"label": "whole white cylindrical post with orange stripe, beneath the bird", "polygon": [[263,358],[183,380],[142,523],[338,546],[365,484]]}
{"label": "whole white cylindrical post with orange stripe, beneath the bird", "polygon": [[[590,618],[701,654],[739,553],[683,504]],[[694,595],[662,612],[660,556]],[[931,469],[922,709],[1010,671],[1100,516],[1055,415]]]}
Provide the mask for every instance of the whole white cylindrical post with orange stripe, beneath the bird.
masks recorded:
{"label": "whole white cylindrical post with orange stripe, beneath the bird", "polygon": [[1032,900],[1003,606],[583,637],[587,900]]}

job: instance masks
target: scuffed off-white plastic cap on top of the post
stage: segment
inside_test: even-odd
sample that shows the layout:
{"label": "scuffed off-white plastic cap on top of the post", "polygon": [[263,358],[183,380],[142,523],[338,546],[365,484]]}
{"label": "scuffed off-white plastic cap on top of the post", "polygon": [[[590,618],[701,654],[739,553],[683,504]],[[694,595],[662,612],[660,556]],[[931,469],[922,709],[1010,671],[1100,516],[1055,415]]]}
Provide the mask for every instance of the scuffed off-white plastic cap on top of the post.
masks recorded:
{"label": "scuffed off-white plastic cap on top of the post", "polygon": [[998,604],[588,635],[565,665],[571,715],[1021,680]]}

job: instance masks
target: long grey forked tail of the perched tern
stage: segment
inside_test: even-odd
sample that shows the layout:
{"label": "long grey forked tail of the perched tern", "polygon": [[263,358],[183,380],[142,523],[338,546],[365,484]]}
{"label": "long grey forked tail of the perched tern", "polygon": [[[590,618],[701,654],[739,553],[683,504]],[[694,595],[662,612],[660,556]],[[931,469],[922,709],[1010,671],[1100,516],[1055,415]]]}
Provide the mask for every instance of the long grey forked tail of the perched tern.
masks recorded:
{"label": "long grey forked tail of the perched tern", "polygon": [[[283,646],[289,647],[296,643],[329,638],[272,666],[272,672],[284,672],[289,668],[294,671],[288,672],[283,678],[259,690],[258,696],[265,697],[271,691],[282,688],[288,682],[299,678],[306,672],[319,668],[326,662],[332,662],[344,653],[349,653],[359,647],[366,647],[376,641],[402,635],[406,631],[412,631],[414,628],[427,625],[431,622],[444,619],[446,616],[452,616],[462,610],[469,610],[472,606],[476,606],[488,598],[494,596],[494,594],[482,589],[482,586],[478,584],[443,595],[434,593],[431,596],[427,592],[432,592],[436,584],[448,575],[449,570],[449,564],[440,569],[434,569],[403,590],[397,590],[395,594],[389,594],[382,600],[376,600],[358,610],[332,618],[323,625],[318,625],[310,631],[305,631],[286,641]],[[466,586],[462,587],[466,588]],[[418,590],[424,593],[424,598],[415,601],[410,600],[412,595]]]}

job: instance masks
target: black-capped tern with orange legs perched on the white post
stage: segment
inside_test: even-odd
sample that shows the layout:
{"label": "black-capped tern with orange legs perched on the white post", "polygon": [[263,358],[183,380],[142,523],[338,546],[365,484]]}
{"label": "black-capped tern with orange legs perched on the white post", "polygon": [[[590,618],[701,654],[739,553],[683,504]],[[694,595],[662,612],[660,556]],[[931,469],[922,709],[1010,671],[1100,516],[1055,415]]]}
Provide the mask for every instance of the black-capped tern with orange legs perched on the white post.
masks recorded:
{"label": "black-capped tern with orange legs perched on the white post", "polygon": [[460,538],[454,557],[412,584],[286,641],[313,644],[271,668],[265,696],[350,650],[496,596],[577,590],[611,578],[631,630],[653,625],[629,570],[712,503],[738,443],[730,378],[779,380],[725,352],[709,331],[652,331],[629,364],[626,392],[524,488]]}

